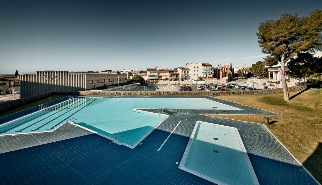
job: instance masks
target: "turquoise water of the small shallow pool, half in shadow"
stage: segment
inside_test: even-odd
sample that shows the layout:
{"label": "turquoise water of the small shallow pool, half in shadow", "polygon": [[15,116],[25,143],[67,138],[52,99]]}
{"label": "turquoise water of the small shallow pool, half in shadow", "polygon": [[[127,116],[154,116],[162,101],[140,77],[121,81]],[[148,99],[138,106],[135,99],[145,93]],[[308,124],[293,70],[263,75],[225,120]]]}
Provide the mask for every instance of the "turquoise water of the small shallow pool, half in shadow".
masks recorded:
{"label": "turquoise water of the small shallow pool, half in shadow", "polygon": [[225,184],[254,184],[235,128],[196,124],[183,166]]}

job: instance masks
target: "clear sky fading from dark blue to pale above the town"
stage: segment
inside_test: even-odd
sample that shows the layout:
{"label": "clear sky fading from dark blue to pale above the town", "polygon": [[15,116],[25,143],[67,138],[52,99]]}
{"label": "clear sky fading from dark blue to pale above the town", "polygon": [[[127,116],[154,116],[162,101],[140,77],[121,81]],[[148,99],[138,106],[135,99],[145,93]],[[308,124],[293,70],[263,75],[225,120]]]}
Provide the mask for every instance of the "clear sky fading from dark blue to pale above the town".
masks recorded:
{"label": "clear sky fading from dark blue to pale above the town", "polygon": [[251,65],[260,22],[307,16],[304,1],[0,0],[0,74]]}

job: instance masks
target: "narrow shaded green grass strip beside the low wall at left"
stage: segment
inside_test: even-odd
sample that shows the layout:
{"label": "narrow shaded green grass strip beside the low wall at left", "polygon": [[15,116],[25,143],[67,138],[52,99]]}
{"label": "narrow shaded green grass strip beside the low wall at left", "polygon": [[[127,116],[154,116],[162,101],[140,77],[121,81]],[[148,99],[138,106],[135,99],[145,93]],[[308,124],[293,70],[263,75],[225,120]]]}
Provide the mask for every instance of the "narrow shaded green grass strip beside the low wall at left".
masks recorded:
{"label": "narrow shaded green grass strip beside the low wall at left", "polygon": [[6,115],[15,113],[15,112],[25,110],[27,108],[31,108],[31,107],[34,107],[34,106],[38,106],[38,105],[47,103],[47,102],[49,102],[49,97],[50,97],[50,101],[52,101],[52,100],[56,100],[56,99],[59,99],[59,98],[62,98],[62,97],[66,97],[66,96],[67,95],[52,95],[52,96],[44,97],[44,98],[41,98],[39,100],[35,100],[35,101],[30,102],[30,103],[23,104],[21,106],[11,108],[9,110],[1,111],[0,112],[0,117],[3,117],[3,116],[6,116]]}

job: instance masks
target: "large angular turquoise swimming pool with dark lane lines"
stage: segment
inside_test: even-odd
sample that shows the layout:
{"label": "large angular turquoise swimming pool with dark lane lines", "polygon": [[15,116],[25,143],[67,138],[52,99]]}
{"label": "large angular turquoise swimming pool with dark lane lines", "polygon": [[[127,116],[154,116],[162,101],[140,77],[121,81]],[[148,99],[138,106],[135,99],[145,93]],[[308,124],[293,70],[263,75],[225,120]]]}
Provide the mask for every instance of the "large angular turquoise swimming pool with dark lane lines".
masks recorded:
{"label": "large angular turquoise swimming pool with dark lane lines", "polygon": [[238,109],[205,98],[73,98],[0,126],[0,135],[51,132],[68,118],[91,131],[135,145],[166,115],[136,109]]}

